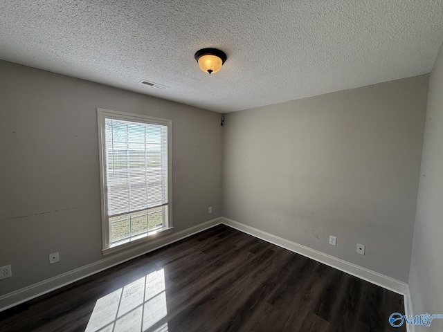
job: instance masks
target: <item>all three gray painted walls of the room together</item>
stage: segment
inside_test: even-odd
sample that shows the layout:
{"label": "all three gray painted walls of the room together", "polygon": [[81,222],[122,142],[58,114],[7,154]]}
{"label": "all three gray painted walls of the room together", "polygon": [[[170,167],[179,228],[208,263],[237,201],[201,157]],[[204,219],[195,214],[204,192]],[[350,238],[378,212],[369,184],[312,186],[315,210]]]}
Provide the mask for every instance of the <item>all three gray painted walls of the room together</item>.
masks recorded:
{"label": "all three gray painted walls of the room together", "polygon": [[[416,313],[442,308],[442,58],[410,272]],[[176,231],[223,210],[407,282],[427,85],[425,75],[239,111],[220,127],[218,113],[0,62],[0,266],[13,272],[0,295],[102,259],[96,107],[173,120]],[[55,251],[60,262],[49,265]]]}

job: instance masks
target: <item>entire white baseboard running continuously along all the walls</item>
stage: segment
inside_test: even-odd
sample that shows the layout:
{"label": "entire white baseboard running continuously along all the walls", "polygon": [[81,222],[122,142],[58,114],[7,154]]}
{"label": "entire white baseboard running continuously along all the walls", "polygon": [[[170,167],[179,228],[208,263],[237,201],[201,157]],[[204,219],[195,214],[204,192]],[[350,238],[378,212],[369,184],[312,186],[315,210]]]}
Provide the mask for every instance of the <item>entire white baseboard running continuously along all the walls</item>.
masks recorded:
{"label": "entire white baseboard running continuously along all the walls", "polygon": [[[42,282],[38,282],[37,284],[21,288],[18,291],[2,295],[0,296],[0,311],[4,311],[12,306],[16,306],[17,304],[21,304],[40,295],[55,291],[57,288],[72,284],[80,279],[89,277],[95,273],[99,273],[102,270],[106,270],[112,266],[116,266],[125,261],[129,261],[130,259],[134,259],[135,257],[144,255],[147,252],[151,252],[163,246],[168,246],[168,244],[174,243],[186,237],[190,237],[193,234],[211,228],[220,223],[224,223],[225,225],[235,228],[236,230],[251,234],[253,237],[257,237],[258,239],[273,243],[276,246],[291,250],[292,252],[297,252],[300,255],[309,257],[315,261],[326,264],[327,266],[331,266],[337,270],[354,275],[355,277],[359,277],[360,279],[371,282],[372,284],[376,284],[377,286],[381,286],[390,291],[394,291],[395,293],[404,295],[405,315],[413,315],[408,284],[224,217],[206,221],[205,223],[201,223],[186,230],[161,237],[155,241],[147,243],[144,246],[138,246],[136,248],[125,250],[124,252],[100,259],[100,261],[88,264],[87,266],[82,266],[81,268],[71,270],[67,273],[63,273],[62,275],[57,275],[56,277],[46,279]],[[407,331],[414,332],[413,327],[414,326],[410,326],[408,324]]]}

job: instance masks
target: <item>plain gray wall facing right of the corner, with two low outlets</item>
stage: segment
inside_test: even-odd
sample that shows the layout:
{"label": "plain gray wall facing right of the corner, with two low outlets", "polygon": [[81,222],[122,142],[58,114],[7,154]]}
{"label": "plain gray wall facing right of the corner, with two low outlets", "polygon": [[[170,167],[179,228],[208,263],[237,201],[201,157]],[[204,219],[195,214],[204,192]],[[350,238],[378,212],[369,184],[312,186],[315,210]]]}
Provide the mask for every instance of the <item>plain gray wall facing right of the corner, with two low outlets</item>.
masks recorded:
{"label": "plain gray wall facing right of the corner, with two low outlets", "polygon": [[427,87],[424,75],[229,113],[223,215],[407,282]]}

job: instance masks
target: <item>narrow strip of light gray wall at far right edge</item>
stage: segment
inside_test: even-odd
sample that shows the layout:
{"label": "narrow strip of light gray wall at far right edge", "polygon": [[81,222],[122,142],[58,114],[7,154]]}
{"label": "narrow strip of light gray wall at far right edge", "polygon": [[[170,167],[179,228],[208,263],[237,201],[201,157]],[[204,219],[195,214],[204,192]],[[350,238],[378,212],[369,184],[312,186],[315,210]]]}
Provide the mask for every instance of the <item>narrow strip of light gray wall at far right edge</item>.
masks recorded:
{"label": "narrow strip of light gray wall at far right edge", "polygon": [[[443,313],[443,50],[429,80],[417,217],[410,262],[413,313]],[[443,331],[443,320],[431,328]]]}

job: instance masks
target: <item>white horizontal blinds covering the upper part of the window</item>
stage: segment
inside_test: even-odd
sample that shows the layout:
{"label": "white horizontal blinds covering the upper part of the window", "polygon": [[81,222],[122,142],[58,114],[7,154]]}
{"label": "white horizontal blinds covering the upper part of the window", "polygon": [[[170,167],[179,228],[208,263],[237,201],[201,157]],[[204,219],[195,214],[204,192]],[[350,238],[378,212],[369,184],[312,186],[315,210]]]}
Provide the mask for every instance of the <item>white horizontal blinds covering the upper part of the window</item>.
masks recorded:
{"label": "white horizontal blinds covering the upper part of the window", "polygon": [[105,120],[109,217],[168,204],[168,127]]}

